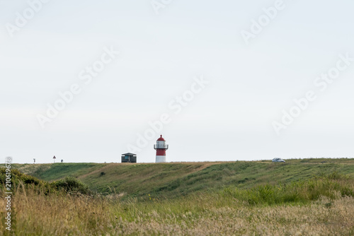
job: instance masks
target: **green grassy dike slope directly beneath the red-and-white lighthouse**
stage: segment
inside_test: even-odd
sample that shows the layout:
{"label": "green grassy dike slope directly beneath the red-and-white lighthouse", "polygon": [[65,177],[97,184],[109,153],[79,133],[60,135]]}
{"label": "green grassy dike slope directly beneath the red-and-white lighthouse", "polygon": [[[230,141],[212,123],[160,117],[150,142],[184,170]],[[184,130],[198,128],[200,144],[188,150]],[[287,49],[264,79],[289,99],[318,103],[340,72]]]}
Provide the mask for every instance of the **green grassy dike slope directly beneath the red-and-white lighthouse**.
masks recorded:
{"label": "green grassy dike slope directly beneath the red-and-white lighthouse", "polygon": [[248,189],[260,184],[290,184],[314,175],[338,172],[354,176],[354,159],[299,159],[286,163],[236,161],[210,163],[55,163],[13,165],[21,172],[53,181],[80,179],[93,190],[126,196],[171,198],[225,187]]}

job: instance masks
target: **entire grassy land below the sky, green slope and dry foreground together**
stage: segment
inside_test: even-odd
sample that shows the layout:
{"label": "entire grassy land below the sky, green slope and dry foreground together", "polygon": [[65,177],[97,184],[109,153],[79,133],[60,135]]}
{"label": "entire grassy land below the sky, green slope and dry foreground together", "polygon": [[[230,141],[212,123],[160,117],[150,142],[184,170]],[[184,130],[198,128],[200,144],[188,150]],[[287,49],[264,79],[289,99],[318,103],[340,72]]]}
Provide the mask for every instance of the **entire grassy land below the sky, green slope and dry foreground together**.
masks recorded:
{"label": "entire grassy land below the sky, green slope and dry foreground together", "polygon": [[[353,159],[308,159],[14,165],[44,180],[13,172],[13,231],[1,224],[0,232],[354,235],[353,164]],[[62,179],[68,175],[73,177]],[[4,208],[0,201],[1,218]]]}

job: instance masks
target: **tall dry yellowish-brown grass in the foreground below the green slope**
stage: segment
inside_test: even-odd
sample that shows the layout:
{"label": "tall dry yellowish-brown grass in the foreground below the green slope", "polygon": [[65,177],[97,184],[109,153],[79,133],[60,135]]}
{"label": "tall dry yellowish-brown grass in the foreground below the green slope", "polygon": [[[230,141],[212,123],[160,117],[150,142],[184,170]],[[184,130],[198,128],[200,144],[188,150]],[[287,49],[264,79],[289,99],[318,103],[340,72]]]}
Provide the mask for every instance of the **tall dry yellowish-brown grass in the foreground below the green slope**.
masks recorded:
{"label": "tall dry yellowish-brown grass in the foreground below the green slope", "polygon": [[340,192],[297,206],[250,206],[219,194],[122,202],[23,184],[15,191],[13,228],[1,223],[4,235],[354,235],[354,199]]}

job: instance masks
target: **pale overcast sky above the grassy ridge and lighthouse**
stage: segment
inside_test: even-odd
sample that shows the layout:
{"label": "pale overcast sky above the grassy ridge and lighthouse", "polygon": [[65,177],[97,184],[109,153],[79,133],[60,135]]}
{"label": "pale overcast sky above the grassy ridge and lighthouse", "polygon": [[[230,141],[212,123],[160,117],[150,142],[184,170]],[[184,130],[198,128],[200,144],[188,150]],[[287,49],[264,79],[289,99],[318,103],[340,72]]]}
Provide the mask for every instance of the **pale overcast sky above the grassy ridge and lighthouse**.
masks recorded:
{"label": "pale overcast sky above the grassy ridge and lighthouse", "polygon": [[0,1],[1,163],[353,157],[353,1],[46,1]]}

